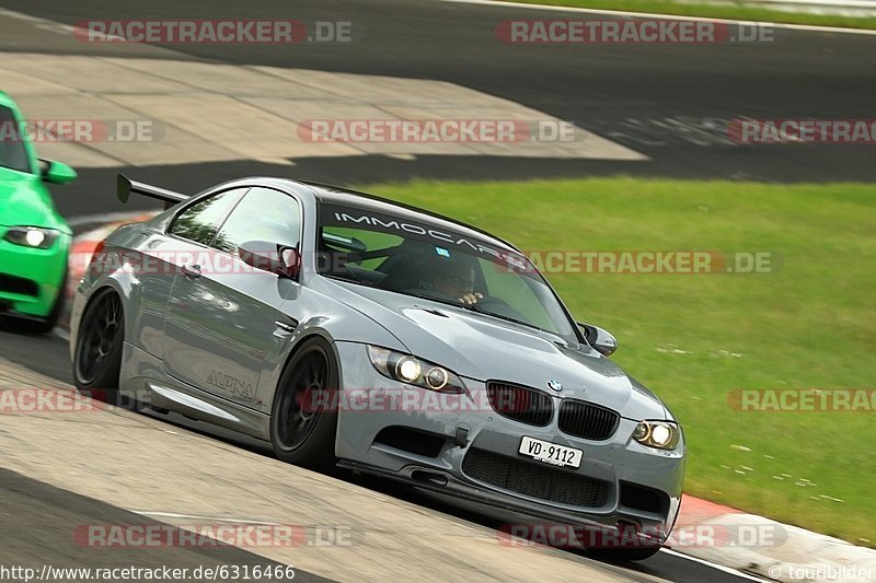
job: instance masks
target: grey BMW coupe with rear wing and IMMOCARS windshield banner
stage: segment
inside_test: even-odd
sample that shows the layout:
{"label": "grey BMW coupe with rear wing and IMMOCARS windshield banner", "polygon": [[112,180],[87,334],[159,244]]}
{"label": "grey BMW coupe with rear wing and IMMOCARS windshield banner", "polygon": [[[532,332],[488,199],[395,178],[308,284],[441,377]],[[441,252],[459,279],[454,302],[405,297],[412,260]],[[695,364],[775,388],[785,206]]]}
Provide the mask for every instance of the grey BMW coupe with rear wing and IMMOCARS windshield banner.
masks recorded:
{"label": "grey BMW coupe with rear wing and IMMOCARS windshield banner", "polygon": [[[73,301],[77,386],[339,466],[666,543],[685,444],[511,244],[349,189],[245,178],[165,202],[99,245]],[[630,533],[633,533],[632,538]],[[615,539],[620,539],[616,538]]]}

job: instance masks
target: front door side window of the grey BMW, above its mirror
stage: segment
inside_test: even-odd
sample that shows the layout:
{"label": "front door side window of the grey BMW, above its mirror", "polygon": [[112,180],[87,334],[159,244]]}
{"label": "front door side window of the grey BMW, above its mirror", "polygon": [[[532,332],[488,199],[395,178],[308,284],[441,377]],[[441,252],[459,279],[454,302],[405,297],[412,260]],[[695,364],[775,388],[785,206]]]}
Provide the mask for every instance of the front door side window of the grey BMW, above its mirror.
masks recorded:
{"label": "front door side window of the grey BMW, above its mirror", "polygon": [[214,246],[237,252],[247,241],[266,241],[297,247],[301,212],[296,199],[270,188],[254,187],[243,197],[219,231]]}

